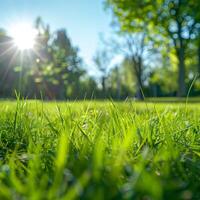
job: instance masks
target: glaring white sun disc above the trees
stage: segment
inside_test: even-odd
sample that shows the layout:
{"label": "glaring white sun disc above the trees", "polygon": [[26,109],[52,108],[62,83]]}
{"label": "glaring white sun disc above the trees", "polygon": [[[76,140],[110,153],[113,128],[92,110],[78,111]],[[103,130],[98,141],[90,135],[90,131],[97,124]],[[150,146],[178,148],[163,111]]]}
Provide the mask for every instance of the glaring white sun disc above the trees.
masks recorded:
{"label": "glaring white sun disc above the trees", "polygon": [[29,23],[17,23],[10,29],[14,45],[21,51],[29,50],[34,47],[36,30]]}

